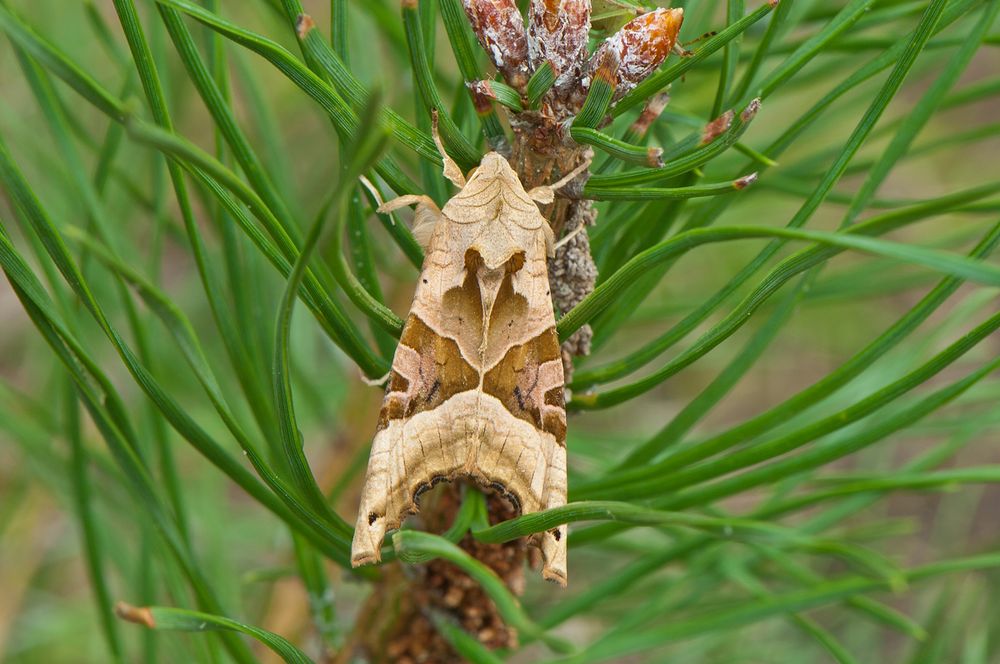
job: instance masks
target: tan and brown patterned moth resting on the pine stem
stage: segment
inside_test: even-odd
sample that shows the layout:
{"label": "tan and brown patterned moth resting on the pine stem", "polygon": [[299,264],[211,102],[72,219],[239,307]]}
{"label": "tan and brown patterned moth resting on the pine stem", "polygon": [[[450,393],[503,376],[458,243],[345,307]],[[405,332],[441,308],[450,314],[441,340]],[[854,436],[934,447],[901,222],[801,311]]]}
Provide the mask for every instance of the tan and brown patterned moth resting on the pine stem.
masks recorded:
{"label": "tan and brown patterned moth resting on the pine stem", "polygon": [[[381,559],[387,531],[417,511],[420,494],[470,478],[521,514],[566,503],[563,368],[546,267],[554,238],[536,205],[559,182],[526,191],[504,157],[487,154],[468,179],[444,152],[460,188],[440,210],[416,204],[425,258],[379,413],[351,564]],[[542,575],[566,584],[566,526],[533,536]]]}

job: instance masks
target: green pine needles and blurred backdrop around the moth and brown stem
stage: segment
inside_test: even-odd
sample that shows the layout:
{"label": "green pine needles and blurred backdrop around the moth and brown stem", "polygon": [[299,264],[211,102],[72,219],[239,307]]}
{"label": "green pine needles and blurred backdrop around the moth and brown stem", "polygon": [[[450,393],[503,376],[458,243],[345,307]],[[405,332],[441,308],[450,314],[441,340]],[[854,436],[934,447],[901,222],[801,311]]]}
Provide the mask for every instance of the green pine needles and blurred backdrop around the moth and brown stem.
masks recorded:
{"label": "green pine needles and blurred backdrop around the moth and brown stem", "polygon": [[[506,110],[470,102],[454,0],[304,4],[300,40],[298,0],[0,2],[4,662],[349,643],[378,573],[347,562],[381,397],[359,372],[421,261],[356,174],[446,197],[428,104],[466,167]],[[1000,6],[675,4],[691,54],[574,133],[602,202],[598,288],[559,322],[595,331],[571,504],[449,533],[569,521],[569,589],[515,598],[415,531],[397,553],[518,628],[488,653],[440,623],[476,661],[1000,661]]]}

